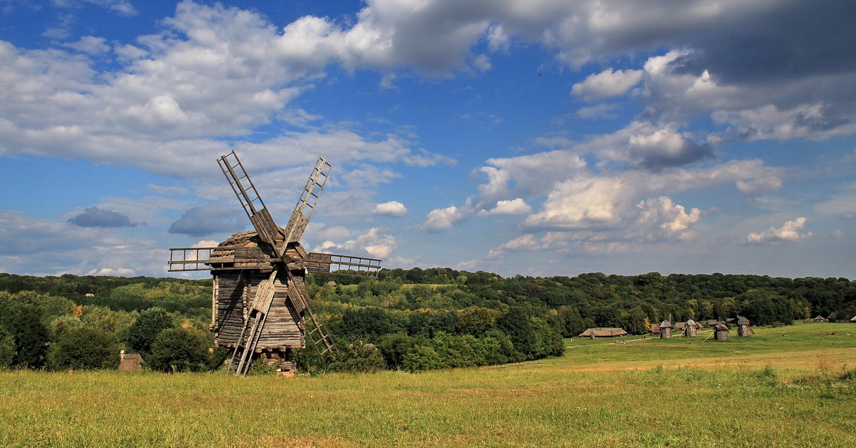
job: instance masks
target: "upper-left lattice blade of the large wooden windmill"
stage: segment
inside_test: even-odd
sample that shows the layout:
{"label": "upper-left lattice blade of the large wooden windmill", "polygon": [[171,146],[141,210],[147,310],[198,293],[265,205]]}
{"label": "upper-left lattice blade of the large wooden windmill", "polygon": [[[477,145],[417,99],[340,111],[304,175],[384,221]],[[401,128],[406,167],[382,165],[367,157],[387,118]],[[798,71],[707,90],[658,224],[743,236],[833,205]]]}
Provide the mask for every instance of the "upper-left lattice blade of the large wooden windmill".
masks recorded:
{"label": "upper-left lattice blade of the large wooden windmill", "polygon": [[217,163],[220,164],[220,170],[223,170],[223,175],[229,181],[235,196],[241,201],[247,218],[250,218],[253,227],[259,232],[259,237],[262,241],[270,244],[271,248],[276,248],[276,234],[278,233],[276,223],[273,222],[270,212],[265,207],[265,202],[262,201],[253,181],[247,175],[247,170],[244,170],[244,165],[241,164],[238,154],[235,151],[229,152],[229,154],[218,158]]}

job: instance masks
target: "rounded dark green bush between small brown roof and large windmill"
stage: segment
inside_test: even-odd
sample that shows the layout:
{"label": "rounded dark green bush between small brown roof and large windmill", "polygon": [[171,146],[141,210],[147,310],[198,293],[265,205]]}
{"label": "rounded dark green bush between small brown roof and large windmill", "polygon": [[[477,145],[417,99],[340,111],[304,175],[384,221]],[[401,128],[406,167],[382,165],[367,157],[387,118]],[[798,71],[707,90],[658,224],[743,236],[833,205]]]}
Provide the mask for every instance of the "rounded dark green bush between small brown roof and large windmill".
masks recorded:
{"label": "rounded dark green bush between small brown roof and large windmill", "polygon": [[210,355],[205,334],[190,328],[169,328],[152,343],[152,354],[146,361],[161,372],[205,372]]}

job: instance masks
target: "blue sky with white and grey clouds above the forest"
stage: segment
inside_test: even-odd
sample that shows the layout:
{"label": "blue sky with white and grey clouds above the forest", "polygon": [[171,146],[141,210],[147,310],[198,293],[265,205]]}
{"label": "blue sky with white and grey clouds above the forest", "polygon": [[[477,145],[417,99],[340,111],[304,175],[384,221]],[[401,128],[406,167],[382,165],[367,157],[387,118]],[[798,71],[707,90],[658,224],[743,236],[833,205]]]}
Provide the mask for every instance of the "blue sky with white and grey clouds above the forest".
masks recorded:
{"label": "blue sky with white and grey clouds above the forest", "polygon": [[[856,272],[856,3],[0,0],[0,272],[278,224],[504,276]],[[171,274],[178,275],[178,274]]]}

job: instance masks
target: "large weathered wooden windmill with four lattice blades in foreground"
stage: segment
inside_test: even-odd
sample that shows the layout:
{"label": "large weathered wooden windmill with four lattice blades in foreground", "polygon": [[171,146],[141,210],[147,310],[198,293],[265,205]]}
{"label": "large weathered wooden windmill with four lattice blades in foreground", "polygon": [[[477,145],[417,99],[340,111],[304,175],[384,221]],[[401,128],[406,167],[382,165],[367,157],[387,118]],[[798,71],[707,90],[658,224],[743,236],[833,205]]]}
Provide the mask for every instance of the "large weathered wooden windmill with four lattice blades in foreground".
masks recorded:
{"label": "large weathered wooden windmill with four lattice blades in foreground", "polygon": [[237,154],[229,152],[217,162],[255,230],[237,232],[217,248],[171,248],[169,271],[211,271],[211,331],[217,345],[234,348],[230,368],[236,374],[247,373],[254,354],[292,370],[294,352],[305,348],[307,339],[326,355],[335,345],[312,310],[306,273],[377,276],[380,271],[377,259],[306,253],[300,245],[332,165],[318,158],[283,228],[270,217]]}

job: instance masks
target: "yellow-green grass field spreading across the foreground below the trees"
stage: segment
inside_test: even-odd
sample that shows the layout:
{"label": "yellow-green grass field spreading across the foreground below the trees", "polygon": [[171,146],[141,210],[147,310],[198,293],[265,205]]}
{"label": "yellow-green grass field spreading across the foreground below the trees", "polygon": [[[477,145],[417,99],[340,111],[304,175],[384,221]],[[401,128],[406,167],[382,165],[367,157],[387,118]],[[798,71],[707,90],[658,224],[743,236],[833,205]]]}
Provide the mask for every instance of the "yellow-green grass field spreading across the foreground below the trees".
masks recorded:
{"label": "yellow-green grass field spreading across the foreground below the trees", "polygon": [[856,446],[856,325],[756,332],[416,374],[0,372],[0,445]]}

